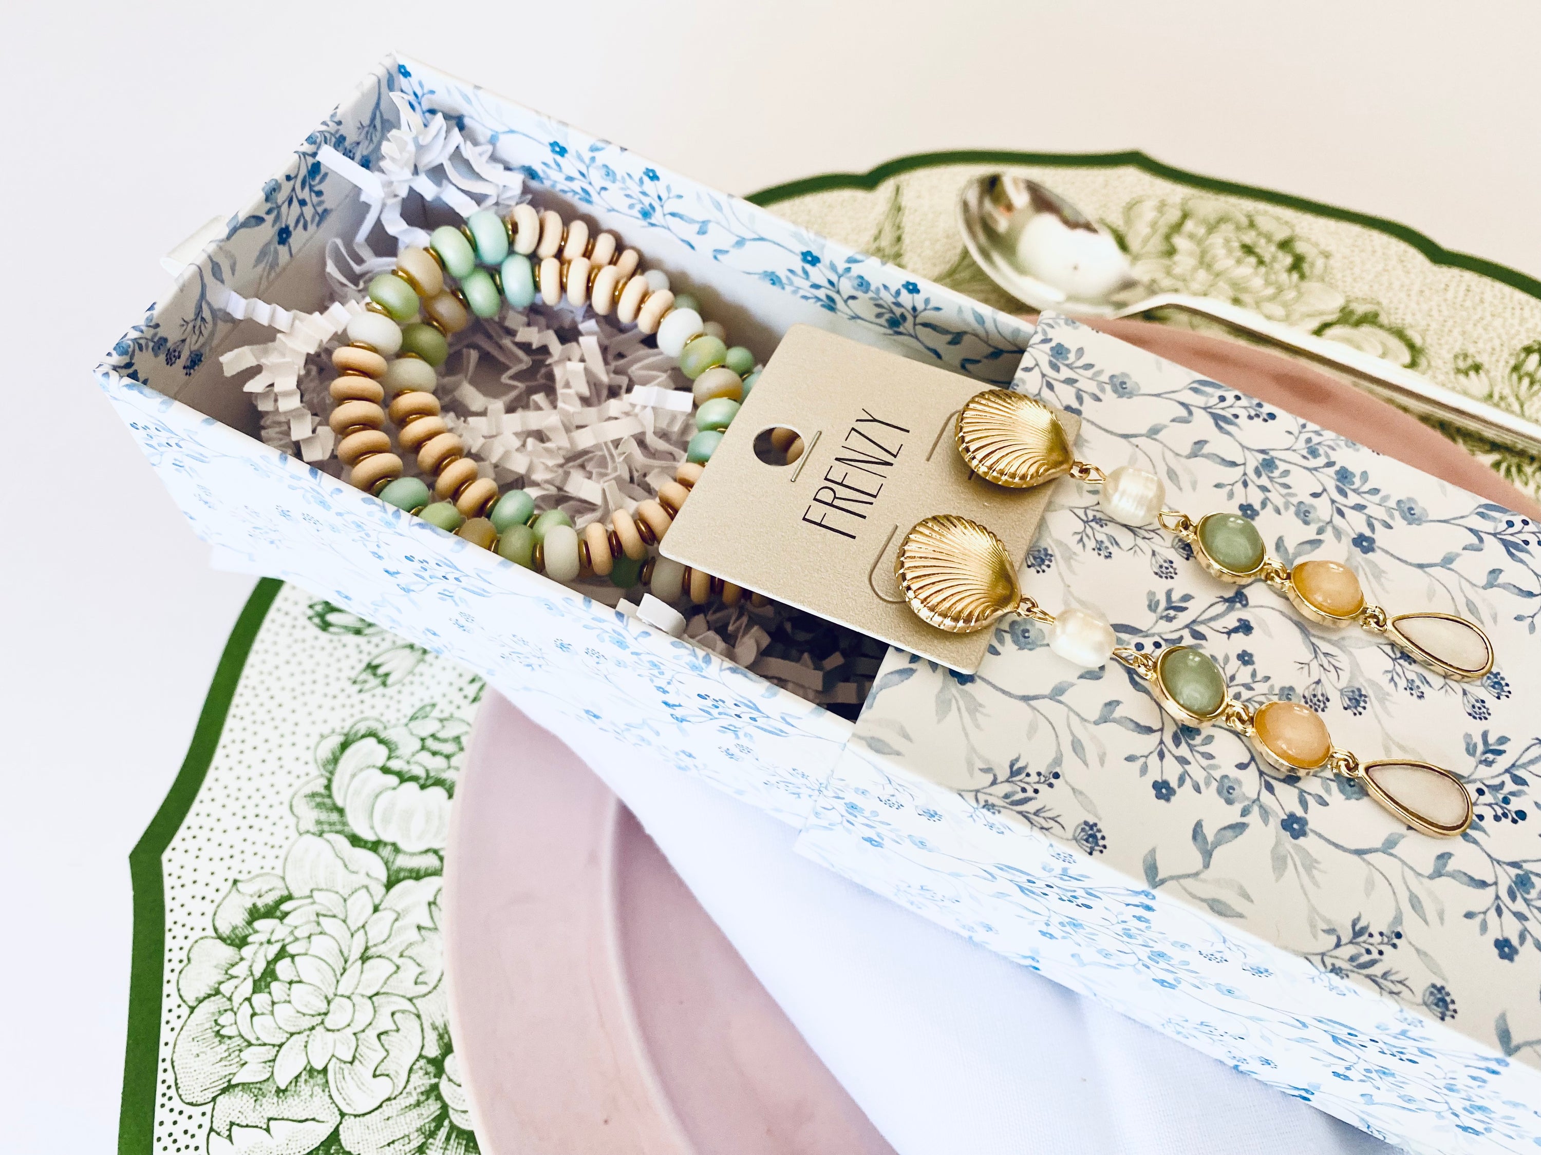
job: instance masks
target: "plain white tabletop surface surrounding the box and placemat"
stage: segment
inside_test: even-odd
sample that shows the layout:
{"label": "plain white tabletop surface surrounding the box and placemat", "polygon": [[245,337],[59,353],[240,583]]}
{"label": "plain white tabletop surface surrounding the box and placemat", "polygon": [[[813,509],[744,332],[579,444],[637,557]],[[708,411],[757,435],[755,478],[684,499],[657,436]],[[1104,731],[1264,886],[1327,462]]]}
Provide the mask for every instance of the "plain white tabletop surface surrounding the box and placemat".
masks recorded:
{"label": "plain white tabletop surface surrounding the box and placemat", "polygon": [[1541,276],[1541,8],[1472,3],[12,3],[0,176],[0,1150],[106,1150],[129,847],[250,579],[91,383],[157,257],[401,48],[723,189],[957,148],[1110,151]]}

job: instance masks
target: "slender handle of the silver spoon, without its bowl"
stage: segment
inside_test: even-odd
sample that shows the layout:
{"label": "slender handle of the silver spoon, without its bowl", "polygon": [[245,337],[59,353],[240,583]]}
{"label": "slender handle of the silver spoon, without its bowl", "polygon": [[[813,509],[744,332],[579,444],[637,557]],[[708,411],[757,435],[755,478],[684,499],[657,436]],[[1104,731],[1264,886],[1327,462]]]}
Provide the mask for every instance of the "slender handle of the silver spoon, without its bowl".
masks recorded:
{"label": "slender handle of the silver spoon, without its bowl", "polygon": [[1541,425],[1526,420],[1486,400],[1438,385],[1421,373],[1393,365],[1370,353],[1336,340],[1270,320],[1251,310],[1211,297],[1196,297],[1187,293],[1159,293],[1134,305],[1119,310],[1114,317],[1131,317],[1156,308],[1177,308],[1202,317],[1219,320],[1231,328],[1265,337],[1328,368],[1355,377],[1367,393],[1395,402],[1421,417],[1450,422],[1472,430],[1512,448],[1541,457]]}

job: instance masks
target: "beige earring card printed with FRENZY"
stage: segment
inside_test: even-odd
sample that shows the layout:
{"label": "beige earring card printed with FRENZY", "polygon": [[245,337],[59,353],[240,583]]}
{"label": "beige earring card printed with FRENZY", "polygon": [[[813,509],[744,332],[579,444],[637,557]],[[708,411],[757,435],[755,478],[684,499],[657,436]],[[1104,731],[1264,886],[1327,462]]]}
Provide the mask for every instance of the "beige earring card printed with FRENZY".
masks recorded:
{"label": "beige earring card printed with FRENZY", "polygon": [[[1003,490],[963,464],[954,427],[982,388],[791,328],[664,537],[664,556],[972,673],[991,631],[922,622],[894,559],[909,528],[937,513],[972,517],[1014,559],[1026,554],[1051,487]],[[1059,419],[1074,445],[1079,417]]]}

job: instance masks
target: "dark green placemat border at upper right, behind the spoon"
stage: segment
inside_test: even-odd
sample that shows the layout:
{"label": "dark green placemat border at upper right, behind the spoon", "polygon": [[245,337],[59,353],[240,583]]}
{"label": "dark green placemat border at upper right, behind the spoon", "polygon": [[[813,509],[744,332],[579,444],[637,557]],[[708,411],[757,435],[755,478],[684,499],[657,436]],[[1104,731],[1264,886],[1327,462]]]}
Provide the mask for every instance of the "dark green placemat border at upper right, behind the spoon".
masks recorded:
{"label": "dark green placemat border at upper right, behind the spoon", "polygon": [[1425,237],[1418,229],[1408,228],[1407,225],[1399,225],[1395,220],[1387,220],[1385,217],[1371,217],[1367,213],[1355,213],[1348,208],[1338,208],[1336,205],[1324,205],[1319,200],[1308,200],[1305,197],[1298,197],[1290,192],[1276,192],[1267,188],[1253,188],[1251,185],[1237,185],[1233,180],[1216,180],[1214,177],[1205,177],[1197,172],[1188,172],[1187,169],[1173,168],[1171,165],[1163,165],[1160,160],[1154,160],[1143,152],[1009,152],[1009,151],[994,151],[994,149],[965,149],[960,152],[917,152],[908,157],[898,157],[889,160],[877,168],[868,169],[866,172],[826,172],[818,177],[804,177],[803,180],[791,180],[784,185],[774,185],[772,188],[761,189],[760,192],[752,192],[746,200],[760,205],[761,208],[769,208],[783,200],[792,200],[794,197],[806,197],[814,192],[828,192],[831,189],[855,188],[871,192],[880,183],[889,177],[901,176],[903,172],[914,172],[918,168],[940,168],[943,165],[1039,165],[1043,168],[1137,168],[1142,172],[1150,172],[1154,177],[1162,177],[1179,185],[1188,185],[1190,188],[1199,188],[1207,192],[1222,192],[1231,197],[1247,197],[1250,200],[1262,200],[1270,205],[1281,205],[1282,208],[1293,208],[1301,213],[1310,213],[1318,217],[1328,217],[1331,220],[1342,220],[1350,225],[1359,225],[1362,228],[1375,229],[1376,233],[1384,233],[1388,237],[1396,237],[1405,245],[1412,245],[1415,249],[1422,253],[1432,263],[1444,265],[1447,268],[1459,268],[1467,273],[1476,273],[1478,276],[1498,280],[1509,285],[1513,290],[1519,290],[1526,296],[1541,300],[1541,280],[1521,273],[1519,270],[1509,268],[1507,265],[1499,265],[1493,260],[1486,260],[1484,257],[1475,257],[1470,253],[1455,253],[1447,249],[1444,245]]}

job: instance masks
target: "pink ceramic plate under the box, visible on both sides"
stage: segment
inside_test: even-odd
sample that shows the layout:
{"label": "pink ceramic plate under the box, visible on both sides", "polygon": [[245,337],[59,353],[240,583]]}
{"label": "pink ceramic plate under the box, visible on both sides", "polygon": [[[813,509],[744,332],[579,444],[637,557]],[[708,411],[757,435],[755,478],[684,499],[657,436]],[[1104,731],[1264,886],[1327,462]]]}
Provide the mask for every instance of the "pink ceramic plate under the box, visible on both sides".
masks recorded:
{"label": "pink ceramic plate under the box, visible on both sides", "polygon": [[[1119,337],[1526,513],[1459,447],[1299,362]],[[490,696],[445,870],[456,1052],[488,1155],[889,1152],[616,798]]]}

